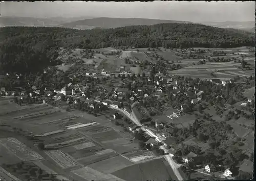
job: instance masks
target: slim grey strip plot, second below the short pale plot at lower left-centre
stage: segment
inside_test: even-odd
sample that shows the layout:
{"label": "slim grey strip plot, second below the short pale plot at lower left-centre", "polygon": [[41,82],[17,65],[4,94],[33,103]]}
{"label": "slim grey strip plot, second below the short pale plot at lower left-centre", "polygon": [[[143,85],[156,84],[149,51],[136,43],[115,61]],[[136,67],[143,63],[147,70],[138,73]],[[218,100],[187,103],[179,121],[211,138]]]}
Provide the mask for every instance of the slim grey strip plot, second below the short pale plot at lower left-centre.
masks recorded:
{"label": "slim grey strip plot, second below the short pale plot at lower left-centre", "polygon": [[79,162],[82,165],[89,165],[89,164],[93,164],[96,162],[100,162],[106,159],[110,159],[112,157],[117,157],[118,153],[115,151],[109,152],[109,153],[104,153],[104,154],[98,154],[98,152],[96,152],[96,154],[92,155],[92,156],[88,156],[88,157],[84,157],[81,158],[79,160],[77,160],[77,162]]}

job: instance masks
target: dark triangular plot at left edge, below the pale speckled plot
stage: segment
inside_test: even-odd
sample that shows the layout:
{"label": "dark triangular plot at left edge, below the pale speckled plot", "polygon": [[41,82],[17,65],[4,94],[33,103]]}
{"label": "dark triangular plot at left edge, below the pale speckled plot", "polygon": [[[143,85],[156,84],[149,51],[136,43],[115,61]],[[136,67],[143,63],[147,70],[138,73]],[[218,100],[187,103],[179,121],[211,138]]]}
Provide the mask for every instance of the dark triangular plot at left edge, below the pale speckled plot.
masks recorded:
{"label": "dark triangular plot at left edge, below the pale speckled plot", "polygon": [[0,144],[0,164],[16,164],[21,160],[9,149]]}

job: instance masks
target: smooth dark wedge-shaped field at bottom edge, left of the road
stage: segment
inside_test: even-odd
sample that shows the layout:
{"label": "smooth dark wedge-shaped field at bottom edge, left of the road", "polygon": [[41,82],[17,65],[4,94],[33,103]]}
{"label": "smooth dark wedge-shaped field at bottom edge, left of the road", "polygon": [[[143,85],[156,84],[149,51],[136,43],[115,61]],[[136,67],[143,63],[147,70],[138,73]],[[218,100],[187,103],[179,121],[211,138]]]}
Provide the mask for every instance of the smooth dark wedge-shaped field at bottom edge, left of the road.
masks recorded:
{"label": "smooth dark wedge-shaped field at bottom edge, left of the road", "polygon": [[[132,173],[132,174],[131,174]],[[144,180],[172,180],[162,160],[153,160],[146,163],[132,165],[112,173],[127,181]]]}

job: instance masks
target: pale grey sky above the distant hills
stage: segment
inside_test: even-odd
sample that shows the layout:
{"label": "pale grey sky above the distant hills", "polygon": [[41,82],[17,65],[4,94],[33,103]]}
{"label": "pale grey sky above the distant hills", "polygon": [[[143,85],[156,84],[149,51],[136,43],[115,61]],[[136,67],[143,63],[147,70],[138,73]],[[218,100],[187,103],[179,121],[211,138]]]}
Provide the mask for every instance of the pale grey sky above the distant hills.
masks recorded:
{"label": "pale grey sky above the distant hills", "polygon": [[180,21],[255,21],[250,2],[2,2],[1,16],[23,17],[119,17]]}

